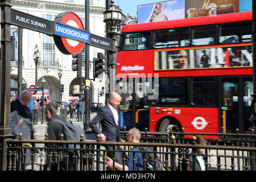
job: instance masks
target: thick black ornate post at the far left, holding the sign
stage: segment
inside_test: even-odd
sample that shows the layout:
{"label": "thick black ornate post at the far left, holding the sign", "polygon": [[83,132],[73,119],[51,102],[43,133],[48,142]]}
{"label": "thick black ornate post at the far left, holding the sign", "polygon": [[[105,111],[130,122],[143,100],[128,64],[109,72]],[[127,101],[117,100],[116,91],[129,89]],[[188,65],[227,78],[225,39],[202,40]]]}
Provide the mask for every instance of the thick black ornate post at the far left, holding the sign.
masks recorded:
{"label": "thick black ornate post at the far left, holding the sign", "polygon": [[11,0],[1,0],[0,61],[0,171],[7,169],[7,140],[10,140],[10,22]]}

